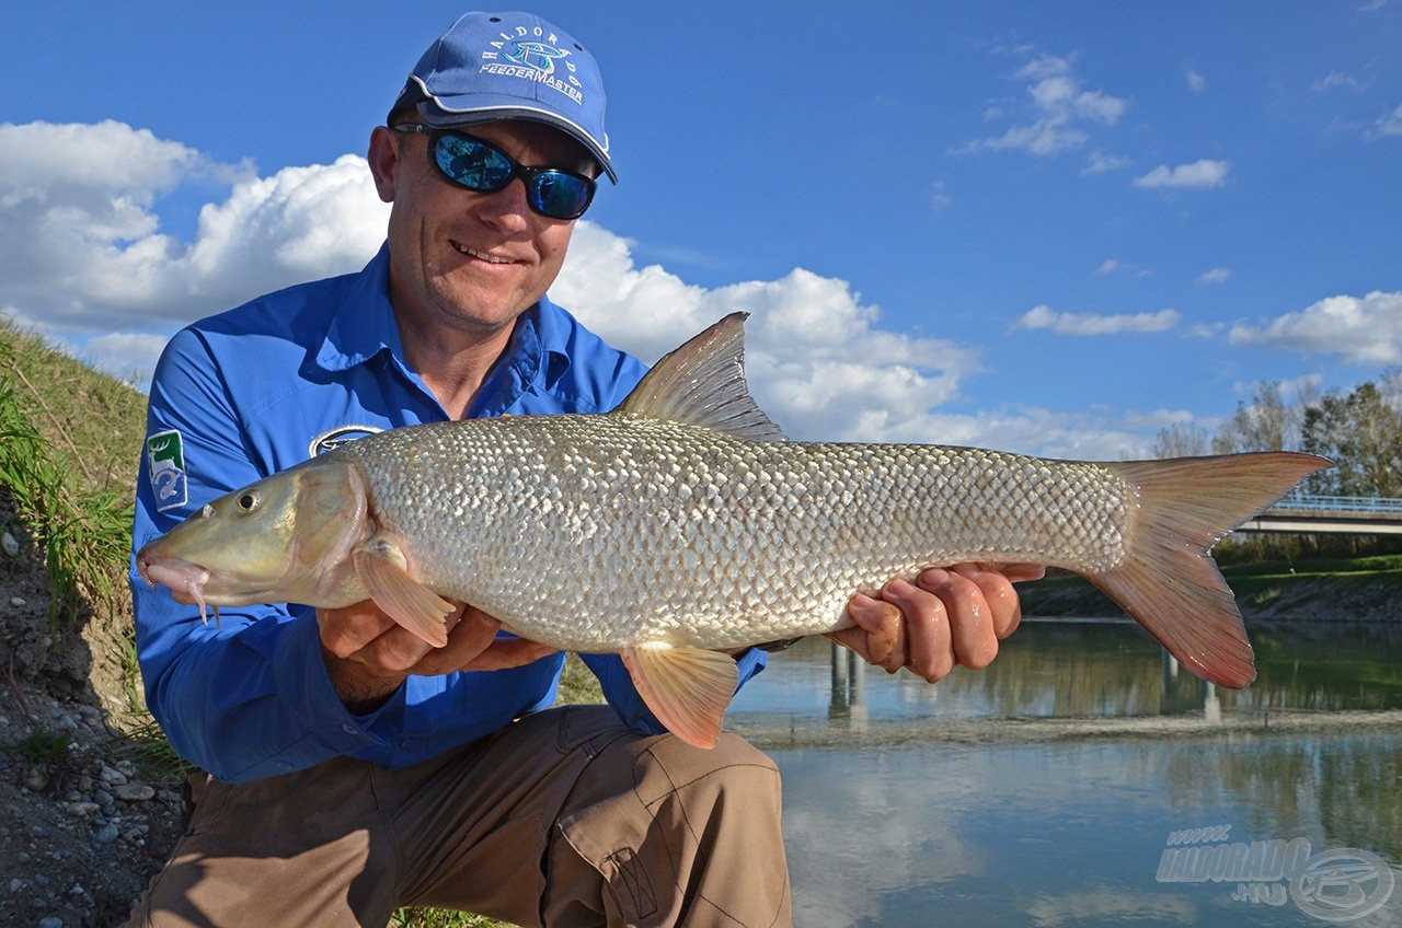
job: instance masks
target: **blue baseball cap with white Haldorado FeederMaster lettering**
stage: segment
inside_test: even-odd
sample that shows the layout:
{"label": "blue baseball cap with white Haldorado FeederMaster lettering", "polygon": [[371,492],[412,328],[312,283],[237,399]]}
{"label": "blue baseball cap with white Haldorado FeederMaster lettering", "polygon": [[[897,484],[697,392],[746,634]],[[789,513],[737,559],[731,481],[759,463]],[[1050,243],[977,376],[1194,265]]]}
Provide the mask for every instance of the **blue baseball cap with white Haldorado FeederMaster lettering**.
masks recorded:
{"label": "blue baseball cap with white Haldorado FeederMaster lettering", "polygon": [[531,13],[467,13],[423,52],[390,115],[414,109],[435,129],[496,119],[554,126],[589,150],[608,179],[604,81],[593,55]]}

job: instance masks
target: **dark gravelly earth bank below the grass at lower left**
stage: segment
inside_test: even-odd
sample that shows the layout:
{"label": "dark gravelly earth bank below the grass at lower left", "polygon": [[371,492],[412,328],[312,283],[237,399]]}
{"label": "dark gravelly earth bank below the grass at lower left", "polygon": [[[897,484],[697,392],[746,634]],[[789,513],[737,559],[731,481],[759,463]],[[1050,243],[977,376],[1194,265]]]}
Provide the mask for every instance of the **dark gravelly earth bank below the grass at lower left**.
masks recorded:
{"label": "dark gravelly earth bank below the grass at lower left", "polygon": [[0,526],[0,925],[119,925],[179,833],[179,784],[112,728],[122,697],[94,690],[109,662],[93,655],[121,645],[56,642],[42,558],[3,505]]}

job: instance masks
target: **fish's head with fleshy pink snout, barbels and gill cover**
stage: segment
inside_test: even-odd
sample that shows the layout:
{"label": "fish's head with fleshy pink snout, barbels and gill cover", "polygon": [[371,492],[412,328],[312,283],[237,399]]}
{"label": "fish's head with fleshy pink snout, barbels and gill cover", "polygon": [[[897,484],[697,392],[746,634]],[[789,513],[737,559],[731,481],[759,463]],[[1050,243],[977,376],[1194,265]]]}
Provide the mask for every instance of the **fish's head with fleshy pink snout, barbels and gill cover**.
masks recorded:
{"label": "fish's head with fleshy pink snout, barbels and gill cover", "polygon": [[369,537],[369,495],[359,467],[328,454],[226,493],[142,547],[136,569],[177,601],[205,606],[365,599],[350,565]]}

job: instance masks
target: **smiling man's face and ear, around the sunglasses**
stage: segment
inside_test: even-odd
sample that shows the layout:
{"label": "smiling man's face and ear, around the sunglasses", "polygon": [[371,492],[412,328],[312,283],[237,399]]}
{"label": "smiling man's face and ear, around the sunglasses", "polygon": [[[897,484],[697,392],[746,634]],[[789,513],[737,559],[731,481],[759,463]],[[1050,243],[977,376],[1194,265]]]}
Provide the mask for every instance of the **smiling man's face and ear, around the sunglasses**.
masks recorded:
{"label": "smiling man's face and ear, around the sunglasses", "polygon": [[[585,150],[533,122],[464,129],[530,167],[593,174]],[[390,294],[401,325],[447,325],[491,334],[538,300],[565,261],[573,220],[547,219],[526,205],[513,179],[474,193],[429,164],[423,135],[376,129],[370,163],[390,210]]]}

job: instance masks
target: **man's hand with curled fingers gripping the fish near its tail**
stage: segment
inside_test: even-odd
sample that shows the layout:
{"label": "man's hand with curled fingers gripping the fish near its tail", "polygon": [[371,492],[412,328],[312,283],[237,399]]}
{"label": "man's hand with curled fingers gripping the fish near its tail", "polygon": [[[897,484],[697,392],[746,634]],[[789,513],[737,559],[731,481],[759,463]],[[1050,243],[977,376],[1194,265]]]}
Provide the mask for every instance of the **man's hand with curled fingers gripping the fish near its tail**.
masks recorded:
{"label": "man's hand with curled fingers gripping the fish near its tail", "polygon": [[914,583],[892,580],[880,599],[858,593],[847,604],[857,625],[827,636],[887,673],[908,667],[935,683],[955,664],[988,666],[1022,620],[1012,585],[1044,572],[1030,564],[931,568]]}

